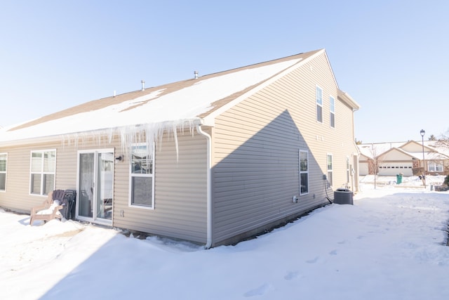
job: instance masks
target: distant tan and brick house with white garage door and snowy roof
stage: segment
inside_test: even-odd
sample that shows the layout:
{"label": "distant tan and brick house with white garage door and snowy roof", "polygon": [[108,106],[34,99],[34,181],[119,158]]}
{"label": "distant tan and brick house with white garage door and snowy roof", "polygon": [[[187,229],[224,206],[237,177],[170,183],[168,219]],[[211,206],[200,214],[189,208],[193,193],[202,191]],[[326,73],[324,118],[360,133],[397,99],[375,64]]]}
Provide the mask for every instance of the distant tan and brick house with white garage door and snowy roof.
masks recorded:
{"label": "distant tan and brick house with white garage door and snowy roof", "polygon": [[375,174],[376,160],[380,176],[418,176],[423,174],[423,166],[426,175],[449,174],[448,150],[437,141],[424,141],[424,157],[421,141],[363,144],[358,148],[361,176]]}

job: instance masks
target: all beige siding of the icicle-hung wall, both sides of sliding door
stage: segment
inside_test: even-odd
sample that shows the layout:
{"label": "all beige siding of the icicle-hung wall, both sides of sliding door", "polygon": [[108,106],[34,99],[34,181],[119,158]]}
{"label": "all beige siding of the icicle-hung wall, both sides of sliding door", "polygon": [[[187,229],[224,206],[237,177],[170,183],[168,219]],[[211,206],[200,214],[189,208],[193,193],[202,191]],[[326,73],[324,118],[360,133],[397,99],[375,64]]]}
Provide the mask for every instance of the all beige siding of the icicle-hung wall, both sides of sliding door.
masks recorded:
{"label": "all beige siding of the icicle-hung wall, both sides of sliding door", "polygon": [[[112,225],[119,228],[165,235],[194,242],[206,242],[207,145],[206,138],[195,132],[177,133],[175,138],[164,135],[156,143],[155,208],[130,207],[129,161],[114,164],[114,204]],[[78,150],[116,149],[114,155],[123,155],[119,138],[112,143],[97,139],[70,144],[62,141],[36,145],[0,148],[8,153],[6,192],[0,193],[0,206],[29,213],[46,196],[29,195],[29,157],[31,150],[56,149],[56,189],[76,190]],[[177,158],[178,157],[178,158]]]}

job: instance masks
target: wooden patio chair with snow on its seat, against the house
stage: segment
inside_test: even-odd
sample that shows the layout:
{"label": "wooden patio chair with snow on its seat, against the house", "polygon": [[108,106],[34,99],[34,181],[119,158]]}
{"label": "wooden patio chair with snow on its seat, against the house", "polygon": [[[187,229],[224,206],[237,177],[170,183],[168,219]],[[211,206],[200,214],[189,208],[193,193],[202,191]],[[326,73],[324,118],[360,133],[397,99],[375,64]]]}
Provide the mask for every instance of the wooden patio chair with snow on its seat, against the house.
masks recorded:
{"label": "wooden patio chair with snow on its seat, against the house", "polygon": [[[62,199],[64,198],[64,190],[53,190],[48,193],[47,199],[39,205],[33,207],[29,215],[29,225],[33,225],[33,221],[43,220],[44,223],[53,219],[61,219],[62,215],[58,212],[62,209]],[[58,200],[58,201],[55,201]]]}

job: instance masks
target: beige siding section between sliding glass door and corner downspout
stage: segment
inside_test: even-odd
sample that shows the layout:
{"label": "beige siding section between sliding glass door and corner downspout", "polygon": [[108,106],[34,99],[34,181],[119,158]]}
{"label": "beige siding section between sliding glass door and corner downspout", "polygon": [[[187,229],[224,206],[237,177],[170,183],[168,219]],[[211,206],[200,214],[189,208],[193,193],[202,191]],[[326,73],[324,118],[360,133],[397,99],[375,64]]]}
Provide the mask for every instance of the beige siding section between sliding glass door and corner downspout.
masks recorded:
{"label": "beige siding section between sliding glass door and corner downspout", "polygon": [[[130,207],[128,157],[116,164],[114,226],[206,242],[206,138],[195,133],[156,142],[154,209]],[[178,155],[178,158],[177,158]]]}

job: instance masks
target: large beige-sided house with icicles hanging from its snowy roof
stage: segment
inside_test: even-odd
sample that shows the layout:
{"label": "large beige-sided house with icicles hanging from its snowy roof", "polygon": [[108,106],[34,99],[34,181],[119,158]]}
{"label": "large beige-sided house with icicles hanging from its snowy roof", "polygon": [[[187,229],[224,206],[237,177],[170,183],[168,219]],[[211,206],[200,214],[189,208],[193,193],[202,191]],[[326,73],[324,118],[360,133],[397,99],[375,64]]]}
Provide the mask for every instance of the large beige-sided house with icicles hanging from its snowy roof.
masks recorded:
{"label": "large beige-sided house with icicles hanging from its snowy roof", "polygon": [[358,104],[324,49],[0,130],[0,206],[77,191],[76,219],[215,247],[357,190]]}

